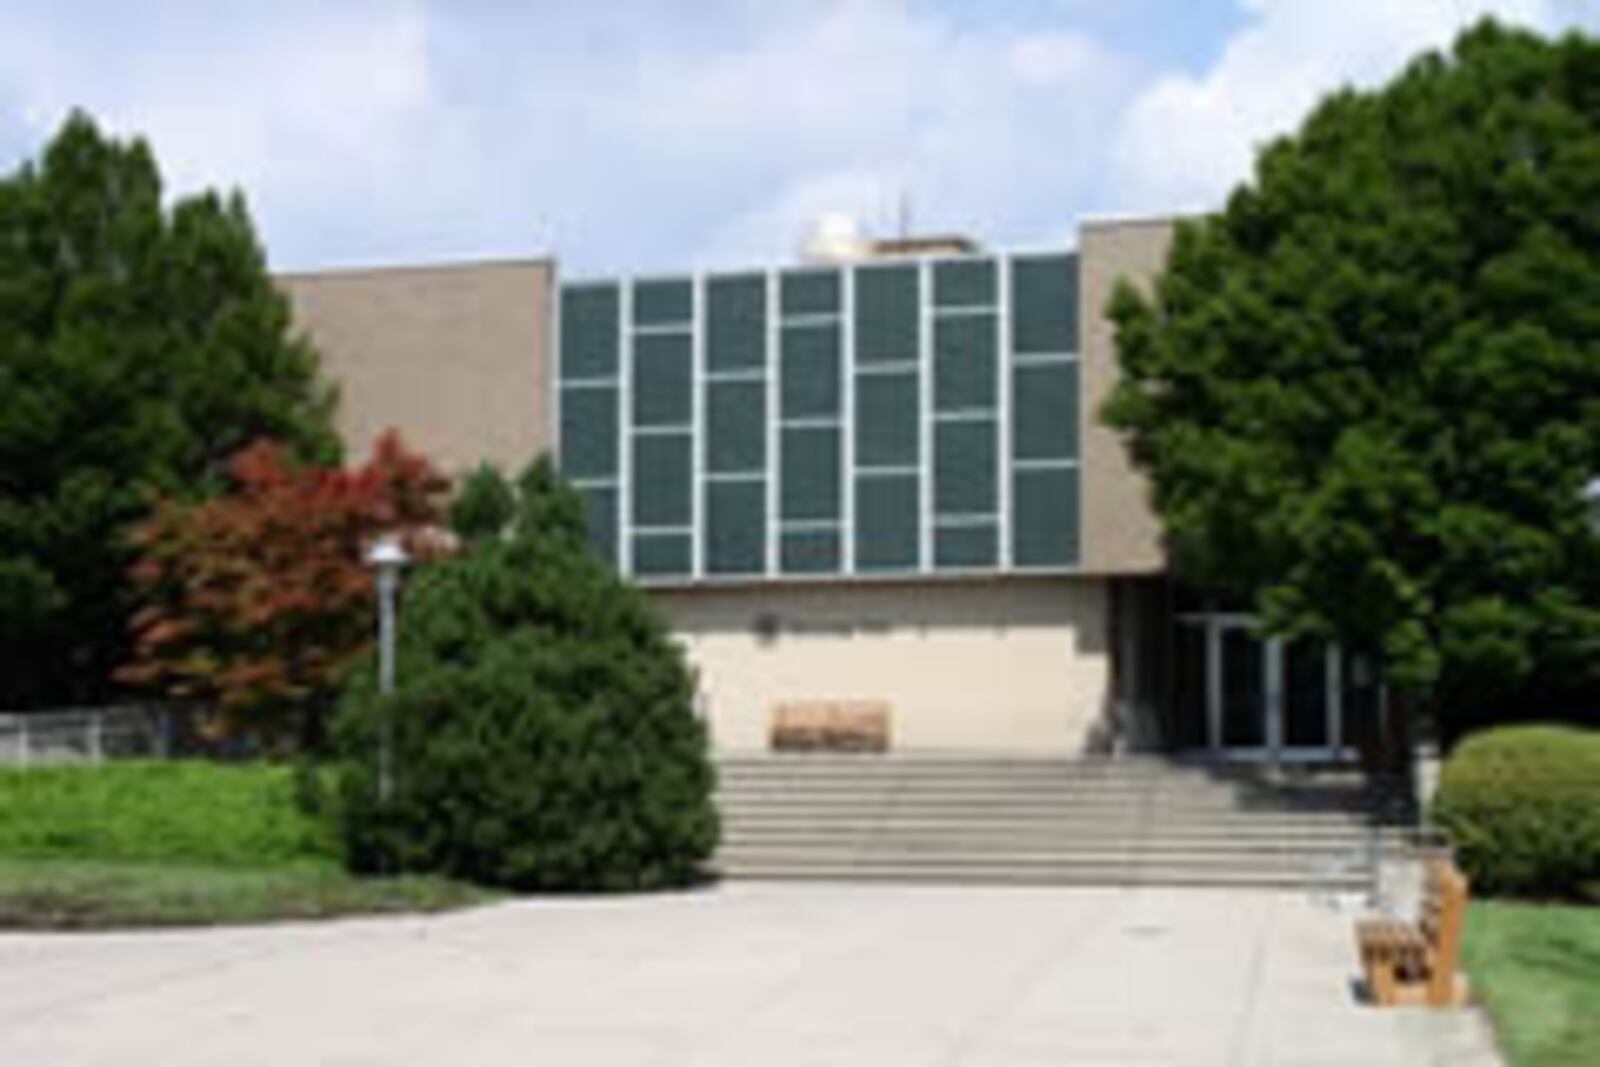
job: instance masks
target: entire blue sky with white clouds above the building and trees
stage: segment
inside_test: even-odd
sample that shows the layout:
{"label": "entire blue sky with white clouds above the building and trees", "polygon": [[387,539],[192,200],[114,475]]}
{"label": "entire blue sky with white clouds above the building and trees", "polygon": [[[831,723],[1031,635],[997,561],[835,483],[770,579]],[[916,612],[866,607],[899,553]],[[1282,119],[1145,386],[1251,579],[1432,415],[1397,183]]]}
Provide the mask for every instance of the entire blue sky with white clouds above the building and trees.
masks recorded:
{"label": "entire blue sky with white clouds above the building and trees", "polygon": [[1326,90],[1600,0],[277,0],[0,21],[0,163],[67,109],[242,187],[277,269],[786,259],[822,213],[994,245],[1218,205]]}

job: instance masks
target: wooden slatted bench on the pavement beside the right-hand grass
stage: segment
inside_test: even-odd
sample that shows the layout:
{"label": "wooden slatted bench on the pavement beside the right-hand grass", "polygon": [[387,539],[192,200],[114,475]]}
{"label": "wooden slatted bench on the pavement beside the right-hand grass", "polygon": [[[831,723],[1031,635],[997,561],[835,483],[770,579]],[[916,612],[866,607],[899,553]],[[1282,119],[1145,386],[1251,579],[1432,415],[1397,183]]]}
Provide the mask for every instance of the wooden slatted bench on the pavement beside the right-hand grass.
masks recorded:
{"label": "wooden slatted bench on the pavement beside the right-hand grass", "polygon": [[1429,862],[1422,909],[1414,923],[1370,918],[1357,923],[1366,990],[1379,1008],[1466,1001],[1458,974],[1461,928],[1467,915],[1467,878],[1448,859]]}

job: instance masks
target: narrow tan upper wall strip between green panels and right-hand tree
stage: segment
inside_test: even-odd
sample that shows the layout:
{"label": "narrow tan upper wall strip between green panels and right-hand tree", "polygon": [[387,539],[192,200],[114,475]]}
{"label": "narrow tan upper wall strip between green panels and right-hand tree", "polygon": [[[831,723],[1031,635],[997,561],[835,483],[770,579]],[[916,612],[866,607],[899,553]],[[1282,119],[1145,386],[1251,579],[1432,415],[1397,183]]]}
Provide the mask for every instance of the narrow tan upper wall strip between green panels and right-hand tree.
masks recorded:
{"label": "narrow tan upper wall strip between green panels and right-hand tree", "polygon": [[1149,574],[1163,568],[1149,483],[1099,410],[1117,381],[1117,334],[1106,315],[1118,278],[1149,286],[1166,264],[1171,219],[1090,221],[1078,234],[1083,389],[1083,571]]}

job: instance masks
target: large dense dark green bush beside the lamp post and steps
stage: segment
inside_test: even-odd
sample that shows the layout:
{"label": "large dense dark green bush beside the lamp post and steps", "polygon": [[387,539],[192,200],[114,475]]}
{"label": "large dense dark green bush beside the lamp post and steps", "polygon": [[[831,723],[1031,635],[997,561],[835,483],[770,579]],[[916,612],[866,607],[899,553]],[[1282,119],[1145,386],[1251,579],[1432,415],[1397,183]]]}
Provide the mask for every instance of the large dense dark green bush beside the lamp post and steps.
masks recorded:
{"label": "large dense dark green bush beside the lamp post and steps", "polygon": [[547,462],[517,498],[501,536],[413,577],[395,694],[370,664],[352,675],[336,728],[350,859],[514,889],[690,883],[717,816],[683,654],[589,552]]}

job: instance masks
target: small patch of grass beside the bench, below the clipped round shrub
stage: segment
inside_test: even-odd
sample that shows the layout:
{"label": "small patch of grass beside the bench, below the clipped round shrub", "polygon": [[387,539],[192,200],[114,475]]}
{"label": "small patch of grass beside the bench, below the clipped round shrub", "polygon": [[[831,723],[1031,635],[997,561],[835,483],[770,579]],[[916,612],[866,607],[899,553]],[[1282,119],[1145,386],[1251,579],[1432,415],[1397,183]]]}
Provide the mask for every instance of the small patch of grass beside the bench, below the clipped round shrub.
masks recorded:
{"label": "small patch of grass beside the bench, below the clipped round shrub", "polygon": [[1600,1064],[1600,907],[1474,902],[1464,955],[1514,1067]]}

